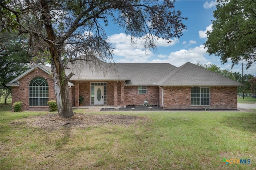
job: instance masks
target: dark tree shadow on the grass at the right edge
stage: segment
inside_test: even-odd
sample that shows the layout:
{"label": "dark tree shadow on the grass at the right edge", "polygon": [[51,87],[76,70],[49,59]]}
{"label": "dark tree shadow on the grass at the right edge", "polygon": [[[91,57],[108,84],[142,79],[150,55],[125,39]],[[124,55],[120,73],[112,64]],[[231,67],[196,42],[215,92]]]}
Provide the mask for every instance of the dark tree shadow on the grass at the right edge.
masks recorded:
{"label": "dark tree shadow on the grass at the right edge", "polygon": [[239,130],[256,132],[256,113],[242,113],[241,115],[226,116],[222,123]]}

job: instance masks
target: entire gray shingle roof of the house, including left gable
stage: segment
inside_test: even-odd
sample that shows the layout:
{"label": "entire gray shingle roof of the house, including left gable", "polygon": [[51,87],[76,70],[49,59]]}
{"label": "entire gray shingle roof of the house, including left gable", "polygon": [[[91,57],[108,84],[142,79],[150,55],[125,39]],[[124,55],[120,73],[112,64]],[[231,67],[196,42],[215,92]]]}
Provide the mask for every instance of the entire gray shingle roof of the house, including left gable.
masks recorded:
{"label": "entire gray shingle roof of the house, including left gable", "polygon": [[[126,81],[126,85],[160,85],[160,86],[242,86],[241,83],[218,75],[190,62],[180,67],[169,63],[105,63],[100,60],[93,63],[82,63],[81,60],[69,65],[66,74],[71,71],[75,74],[72,80],[90,81]],[[51,67],[40,65],[50,74]],[[33,71],[26,71],[8,86],[18,86],[18,80]],[[72,83],[70,83],[72,84]]]}

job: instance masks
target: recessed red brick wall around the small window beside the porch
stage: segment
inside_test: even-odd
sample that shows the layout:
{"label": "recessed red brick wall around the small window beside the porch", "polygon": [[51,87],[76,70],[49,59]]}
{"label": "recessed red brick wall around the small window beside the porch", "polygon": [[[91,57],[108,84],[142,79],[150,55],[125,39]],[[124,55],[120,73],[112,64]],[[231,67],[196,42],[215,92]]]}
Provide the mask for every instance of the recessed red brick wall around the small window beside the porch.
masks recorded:
{"label": "recessed red brick wall around the small window beside the porch", "polygon": [[148,105],[158,105],[159,87],[147,86],[147,94],[139,94],[138,86],[124,86],[124,105],[143,105],[148,99]]}

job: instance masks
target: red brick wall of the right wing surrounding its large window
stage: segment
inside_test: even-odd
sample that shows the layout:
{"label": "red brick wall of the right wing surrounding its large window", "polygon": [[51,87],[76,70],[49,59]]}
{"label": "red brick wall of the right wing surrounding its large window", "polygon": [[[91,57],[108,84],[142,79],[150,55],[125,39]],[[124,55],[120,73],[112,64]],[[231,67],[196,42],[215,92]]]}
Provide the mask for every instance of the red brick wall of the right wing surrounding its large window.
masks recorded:
{"label": "red brick wall of the right wing surrounding its large window", "polygon": [[191,87],[164,87],[164,109],[237,109],[237,87],[210,87],[210,106],[191,106]]}

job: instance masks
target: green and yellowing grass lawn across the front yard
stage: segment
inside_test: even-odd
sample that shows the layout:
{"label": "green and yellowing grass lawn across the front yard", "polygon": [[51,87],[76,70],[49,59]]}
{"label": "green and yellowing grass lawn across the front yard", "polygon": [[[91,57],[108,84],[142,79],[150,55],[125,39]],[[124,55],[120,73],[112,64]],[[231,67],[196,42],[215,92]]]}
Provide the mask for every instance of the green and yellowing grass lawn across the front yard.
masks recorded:
{"label": "green and yellowing grass lawn across the front yard", "polygon": [[[14,113],[10,105],[1,105],[1,170],[256,167],[256,112],[102,111],[93,115],[138,117],[139,121],[129,125],[106,121],[83,128],[32,126],[36,117],[43,119],[46,114],[50,113]],[[250,159],[250,164],[225,165],[224,158],[247,163]]]}

